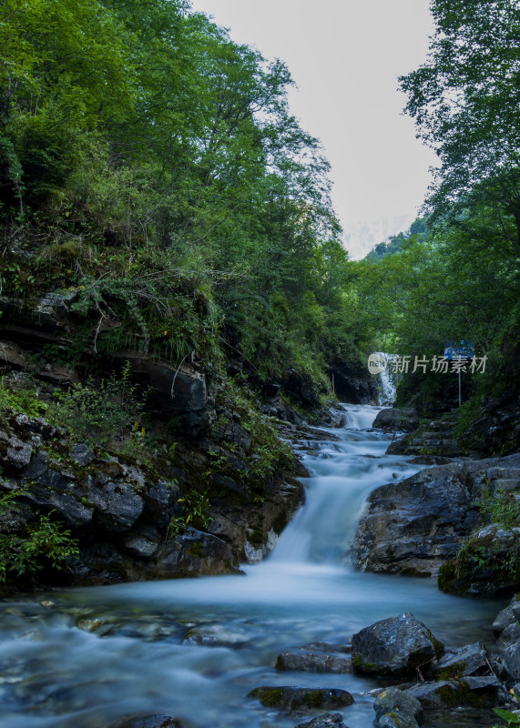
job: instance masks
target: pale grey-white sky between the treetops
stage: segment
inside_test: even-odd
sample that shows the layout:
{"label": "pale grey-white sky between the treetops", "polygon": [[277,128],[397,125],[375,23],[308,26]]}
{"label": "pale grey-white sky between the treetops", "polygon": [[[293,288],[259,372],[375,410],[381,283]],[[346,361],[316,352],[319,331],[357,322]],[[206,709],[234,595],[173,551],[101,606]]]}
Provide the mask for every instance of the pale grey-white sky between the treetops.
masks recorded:
{"label": "pale grey-white sky between the treetops", "polygon": [[428,0],[192,0],[231,38],[280,58],[298,88],[291,113],[321,139],[332,203],[352,258],[406,230],[435,164],[403,115],[398,76],[423,63]]}

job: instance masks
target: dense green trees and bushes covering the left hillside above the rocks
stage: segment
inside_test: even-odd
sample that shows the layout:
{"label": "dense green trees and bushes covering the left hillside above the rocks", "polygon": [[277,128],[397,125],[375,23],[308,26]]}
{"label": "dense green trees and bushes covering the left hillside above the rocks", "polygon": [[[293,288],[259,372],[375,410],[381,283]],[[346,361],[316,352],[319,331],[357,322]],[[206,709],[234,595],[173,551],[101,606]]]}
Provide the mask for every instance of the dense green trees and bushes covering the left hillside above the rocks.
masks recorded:
{"label": "dense green trees and bushes covering the left hillside above the rocks", "polygon": [[291,116],[287,67],[188,5],[0,11],[4,291],[74,289],[99,354],[223,349],[326,391],[326,363],[372,338],[329,166]]}

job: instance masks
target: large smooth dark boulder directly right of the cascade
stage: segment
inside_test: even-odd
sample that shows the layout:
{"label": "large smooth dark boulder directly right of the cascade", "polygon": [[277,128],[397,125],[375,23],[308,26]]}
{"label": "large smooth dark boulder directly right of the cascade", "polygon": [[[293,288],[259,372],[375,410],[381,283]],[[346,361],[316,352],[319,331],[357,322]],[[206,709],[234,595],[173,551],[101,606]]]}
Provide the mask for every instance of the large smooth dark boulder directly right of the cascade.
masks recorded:
{"label": "large smooth dark boulder directly right of the cascade", "polygon": [[520,456],[451,462],[372,491],[352,546],[363,571],[435,576],[480,524],[487,471]]}

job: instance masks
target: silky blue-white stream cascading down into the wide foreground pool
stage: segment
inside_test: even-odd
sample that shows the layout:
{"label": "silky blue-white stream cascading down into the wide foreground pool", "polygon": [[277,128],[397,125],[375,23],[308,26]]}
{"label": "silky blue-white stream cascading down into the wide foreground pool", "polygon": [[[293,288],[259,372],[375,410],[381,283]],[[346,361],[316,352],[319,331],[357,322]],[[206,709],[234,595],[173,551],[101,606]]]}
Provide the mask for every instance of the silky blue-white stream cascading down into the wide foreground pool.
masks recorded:
{"label": "silky blue-white stream cascading down into the wide foreground pool", "polygon": [[346,407],[346,428],[330,430],[340,440],[300,443],[311,473],[307,501],[270,558],[243,567],[246,576],[0,603],[0,726],[104,728],[126,713],[168,713],[187,728],[292,728],[300,721],[246,696],[259,685],[300,685],[348,690],[355,703],[344,709],[345,723],[367,728],[372,698],[364,693],[377,681],[278,672],[277,655],[310,642],[346,644],[400,612],[413,612],[449,645],[489,638],[496,602],[349,566],[345,553],[369,493],[421,466],[384,454],[390,436],[370,430],[377,408]]}

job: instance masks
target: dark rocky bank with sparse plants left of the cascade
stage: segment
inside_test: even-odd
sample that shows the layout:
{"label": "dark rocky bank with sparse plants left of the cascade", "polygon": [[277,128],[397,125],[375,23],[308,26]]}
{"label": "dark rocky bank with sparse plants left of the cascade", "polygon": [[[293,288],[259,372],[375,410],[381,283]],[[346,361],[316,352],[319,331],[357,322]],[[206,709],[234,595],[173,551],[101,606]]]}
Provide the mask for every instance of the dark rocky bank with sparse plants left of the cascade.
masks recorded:
{"label": "dark rocky bank with sparse plants left of the cascade", "polygon": [[[7,581],[136,581],[258,561],[301,504],[295,476],[304,474],[260,401],[201,362],[173,366],[124,348],[100,358],[99,322],[77,315],[74,298],[55,294],[34,308],[2,300]],[[59,572],[40,554],[37,571],[15,578],[40,519],[67,531],[78,552]]]}

